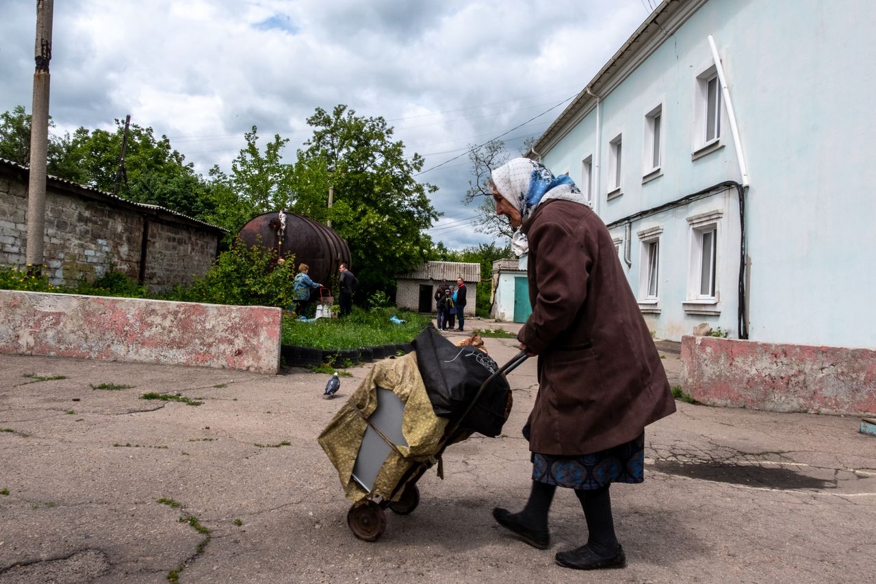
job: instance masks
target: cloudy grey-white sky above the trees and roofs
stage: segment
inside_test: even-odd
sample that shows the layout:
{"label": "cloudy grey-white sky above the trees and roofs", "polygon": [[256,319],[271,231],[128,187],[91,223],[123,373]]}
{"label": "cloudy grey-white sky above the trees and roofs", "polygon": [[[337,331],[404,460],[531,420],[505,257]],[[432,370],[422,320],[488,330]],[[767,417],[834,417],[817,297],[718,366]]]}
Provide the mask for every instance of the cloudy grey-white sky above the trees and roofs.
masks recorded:
{"label": "cloudy grey-white sky above the trees and roofs", "polygon": [[[36,4],[2,2],[0,111],[31,111]],[[206,174],[230,170],[252,125],[262,144],[288,138],[292,162],[314,108],[345,103],[383,116],[428,169],[560,104],[505,140],[539,136],[650,11],[649,0],[57,0],[49,109],[56,132],[112,130],[130,113]],[[433,239],[490,240],[462,203],[467,156],[418,178],[439,187]]]}

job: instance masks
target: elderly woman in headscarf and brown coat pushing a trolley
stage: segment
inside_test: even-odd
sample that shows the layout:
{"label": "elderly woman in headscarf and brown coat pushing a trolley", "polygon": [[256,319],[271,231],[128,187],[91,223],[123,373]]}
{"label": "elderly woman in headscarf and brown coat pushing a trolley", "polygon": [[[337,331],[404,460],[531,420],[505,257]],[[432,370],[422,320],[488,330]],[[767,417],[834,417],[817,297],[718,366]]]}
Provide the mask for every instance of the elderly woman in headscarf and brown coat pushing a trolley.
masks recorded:
{"label": "elderly woman in headscarf and brown coat pushing a trolley", "polygon": [[608,229],[569,176],[519,158],[493,171],[491,189],[496,213],[517,229],[512,249],[529,253],[533,312],[518,340],[539,357],[539,391],[523,429],[532,491],[519,513],[496,508],[493,516],[547,549],[555,488],[573,488],[588,538],[556,562],[623,567],[609,488],[644,480],[645,426],[675,411],[660,355]]}

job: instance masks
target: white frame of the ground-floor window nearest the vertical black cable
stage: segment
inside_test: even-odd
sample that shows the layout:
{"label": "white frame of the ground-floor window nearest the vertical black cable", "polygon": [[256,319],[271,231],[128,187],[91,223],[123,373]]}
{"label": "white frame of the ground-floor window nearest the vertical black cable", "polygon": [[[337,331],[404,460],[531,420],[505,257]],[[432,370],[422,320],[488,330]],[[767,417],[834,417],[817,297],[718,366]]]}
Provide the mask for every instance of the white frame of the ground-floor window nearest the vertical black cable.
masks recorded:
{"label": "white frame of the ground-floor window nearest the vertical black cable", "polygon": [[[682,308],[688,314],[718,315],[721,313],[721,253],[724,237],[724,211],[711,210],[687,217],[689,224],[690,259],[688,264],[688,298]],[[703,235],[714,233],[711,244],[710,286],[712,294],[703,294]]]}

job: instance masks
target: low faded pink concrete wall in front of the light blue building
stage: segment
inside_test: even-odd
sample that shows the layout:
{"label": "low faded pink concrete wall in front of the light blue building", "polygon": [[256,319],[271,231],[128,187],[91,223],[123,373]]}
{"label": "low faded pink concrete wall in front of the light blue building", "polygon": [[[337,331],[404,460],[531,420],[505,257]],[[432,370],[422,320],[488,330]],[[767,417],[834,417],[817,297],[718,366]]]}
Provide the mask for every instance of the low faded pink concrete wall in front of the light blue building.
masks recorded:
{"label": "low faded pink concrete wall in front of the light blue building", "polygon": [[683,337],[682,389],[709,405],[874,413],[876,351]]}

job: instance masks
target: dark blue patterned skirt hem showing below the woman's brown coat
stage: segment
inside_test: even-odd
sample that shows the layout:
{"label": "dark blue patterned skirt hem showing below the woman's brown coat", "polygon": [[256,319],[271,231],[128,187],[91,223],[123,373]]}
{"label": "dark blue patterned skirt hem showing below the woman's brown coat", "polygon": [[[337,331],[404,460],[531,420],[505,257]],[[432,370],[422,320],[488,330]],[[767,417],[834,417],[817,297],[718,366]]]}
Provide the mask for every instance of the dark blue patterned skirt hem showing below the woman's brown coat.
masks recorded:
{"label": "dark blue patterned skirt hem showing below the woman's brown coat", "polygon": [[533,481],[548,485],[590,490],[611,482],[639,483],[645,481],[645,431],[638,438],[599,452],[576,456],[533,452],[532,459]]}

